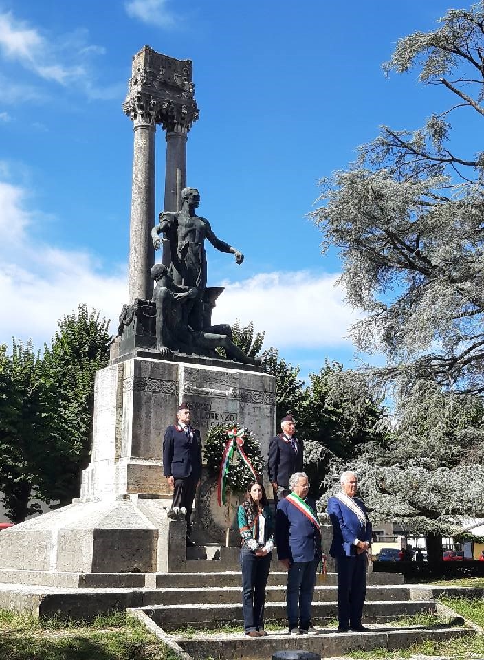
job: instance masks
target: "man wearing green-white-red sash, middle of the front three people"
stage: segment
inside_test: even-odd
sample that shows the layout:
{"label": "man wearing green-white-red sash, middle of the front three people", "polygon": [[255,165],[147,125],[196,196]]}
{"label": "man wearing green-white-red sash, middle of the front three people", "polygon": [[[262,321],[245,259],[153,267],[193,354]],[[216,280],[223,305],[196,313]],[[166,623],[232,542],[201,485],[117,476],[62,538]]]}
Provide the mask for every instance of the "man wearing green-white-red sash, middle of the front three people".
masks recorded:
{"label": "man wearing green-white-red sash, middle of the front three people", "polygon": [[316,635],[318,630],[311,625],[311,605],[316,570],[322,558],[316,503],[307,496],[309,481],[304,472],[292,474],[289,488],[292,492],[278,503],[276,510],[277,555],[288,571],[289,635]]}

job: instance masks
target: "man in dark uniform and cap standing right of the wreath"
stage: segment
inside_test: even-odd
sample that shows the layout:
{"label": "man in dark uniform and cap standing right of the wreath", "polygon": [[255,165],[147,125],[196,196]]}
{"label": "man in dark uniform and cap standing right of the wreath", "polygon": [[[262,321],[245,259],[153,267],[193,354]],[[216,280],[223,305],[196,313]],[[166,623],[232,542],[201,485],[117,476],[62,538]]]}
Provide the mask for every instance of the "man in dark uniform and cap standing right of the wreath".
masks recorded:
{"label": "man in dark uniform and cap standing right of the wreath", "polygon": [[281,429],[269,445],[269,481],[276,505],[289,493],[289,477],[303,471],[303,441],[296,438],[292,415],[283,417]]}

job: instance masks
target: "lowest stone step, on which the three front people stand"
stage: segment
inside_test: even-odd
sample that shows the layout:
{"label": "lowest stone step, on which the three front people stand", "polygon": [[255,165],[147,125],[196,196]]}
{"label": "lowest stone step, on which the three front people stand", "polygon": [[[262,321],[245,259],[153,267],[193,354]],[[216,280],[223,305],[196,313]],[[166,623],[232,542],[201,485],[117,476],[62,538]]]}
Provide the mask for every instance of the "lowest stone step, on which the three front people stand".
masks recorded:
{"label": "lowest stone step, on which the three front people stand", "polygon": [[285,632],[267,637],[232,635],[194,635],[190,639],[173,635],[181,648],[195,660],[271,660],[276,651],[303,650],[318,653],[323,658],[344,657],[351,652],[383,648],[388,652],[404,649],[426,640],[449,641],[456,637],[475,635],[474,630],[461,626],[436,628],[388,628],[375,626],[371,632],[347,632],[338,635],[325,630],[319,635],[292,637]]}

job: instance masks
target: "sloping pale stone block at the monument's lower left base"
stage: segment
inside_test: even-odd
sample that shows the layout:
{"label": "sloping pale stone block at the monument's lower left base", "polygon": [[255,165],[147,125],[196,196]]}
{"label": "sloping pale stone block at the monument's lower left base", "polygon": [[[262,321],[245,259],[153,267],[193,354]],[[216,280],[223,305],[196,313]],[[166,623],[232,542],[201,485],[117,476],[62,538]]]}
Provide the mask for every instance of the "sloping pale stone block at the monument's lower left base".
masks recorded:
{"label": "sloping pale stone block at the monument's lower left base", "polygon": [[77,502],[0,536],[1,569],[64,573],[149,573],[186,560],[186,522],[162,499],[131,496]]}

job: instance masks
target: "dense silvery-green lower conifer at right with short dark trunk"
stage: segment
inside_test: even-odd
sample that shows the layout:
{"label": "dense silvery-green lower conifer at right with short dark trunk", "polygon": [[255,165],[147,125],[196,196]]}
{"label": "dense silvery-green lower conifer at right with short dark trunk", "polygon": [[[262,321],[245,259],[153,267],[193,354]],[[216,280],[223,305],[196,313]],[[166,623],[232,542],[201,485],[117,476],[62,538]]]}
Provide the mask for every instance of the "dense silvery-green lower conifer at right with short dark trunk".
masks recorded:
{"label": "dense silvery-green lower conifer at right with short dark trunk", "polygon": [[[372,516],[425,534],[429,560],[437,562],[441,537],[460,527],[461,516],[484,516],[483,401],[421,382],[399,400],[394,428],[383,442],[363,445],[349,467],[360,475]],[[333,489],[336,471],[327,479]]]}

